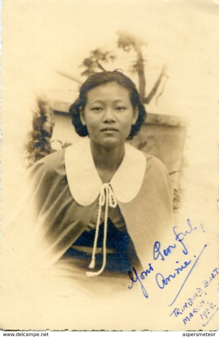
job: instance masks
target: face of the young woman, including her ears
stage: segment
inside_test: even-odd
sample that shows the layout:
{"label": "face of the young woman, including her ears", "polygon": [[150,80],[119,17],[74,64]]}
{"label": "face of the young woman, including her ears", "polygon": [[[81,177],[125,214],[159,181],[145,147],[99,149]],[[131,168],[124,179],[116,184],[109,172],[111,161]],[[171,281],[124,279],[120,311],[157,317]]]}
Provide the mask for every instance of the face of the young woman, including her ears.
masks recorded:
{"label": "face of the young woman, including her ears", "polygon": [[132,124],[138,118],[128,89],[109,82],[87,92],[87,102],[81,112],[91,141],[102,146],[117,146],[126,141]]}

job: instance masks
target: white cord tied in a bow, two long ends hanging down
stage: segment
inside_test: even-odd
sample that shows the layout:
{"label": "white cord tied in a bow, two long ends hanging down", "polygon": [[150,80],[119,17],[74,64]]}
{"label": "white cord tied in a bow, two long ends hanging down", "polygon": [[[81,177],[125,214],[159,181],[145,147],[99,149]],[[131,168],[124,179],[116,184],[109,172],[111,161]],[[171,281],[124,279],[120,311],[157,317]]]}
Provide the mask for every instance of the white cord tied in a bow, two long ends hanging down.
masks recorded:
{"label": "white cord tied in a bow, two long ends hanging down", "polygon": [[92,258],[91,258],[91,262],[89,265],[89,268],[92,268],[92,269],[95,267],[95,255],[96,255],[97,241],[98,241],[98,234],[99,234],[99,227],[100,227],[100,220],[101,220],[101,211],[104,205],[105,205],[105,214],[104,214],[104,236],[103,236],[103,264],[102,264],[101,269],[98,270],[97,272],[86,272],[86,275],[88,277],[100,275],[106,267],[108,208],[109,207],[115,208],[117,206],[116,198],[113,194],[112,188],[109,183],[104,183],[102,185],[100,196],[99,196],[99,210],[98,210],[97,226],[96,226],[95,237],[94,237],[94,242],[93,242]]}

